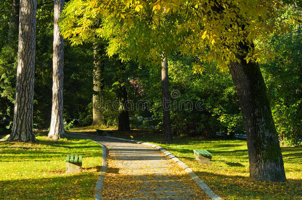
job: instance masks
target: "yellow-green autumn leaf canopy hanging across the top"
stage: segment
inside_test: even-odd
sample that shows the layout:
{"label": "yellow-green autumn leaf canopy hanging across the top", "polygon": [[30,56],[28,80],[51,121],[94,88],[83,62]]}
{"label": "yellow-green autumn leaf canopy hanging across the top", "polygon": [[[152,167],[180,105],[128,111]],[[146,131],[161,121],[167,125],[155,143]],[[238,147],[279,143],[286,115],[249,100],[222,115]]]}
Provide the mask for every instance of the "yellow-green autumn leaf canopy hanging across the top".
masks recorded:
{"label": "yellow-green autumn leaf canopy hanging across the top", "polygon": [[[72,0],[61,30],[73,44],[95,35],[105,38],[108,54],[118,53],[124,60],[158,65],[158,58],[181,51],[215,60],[226,71],[238,55],[259,61],[264,52],[253,48],[253,39],[266,40],[298,23],[292,16],[278,17],[285,9],[277,0]],[[243,50],[242,44],[252,48]]]}

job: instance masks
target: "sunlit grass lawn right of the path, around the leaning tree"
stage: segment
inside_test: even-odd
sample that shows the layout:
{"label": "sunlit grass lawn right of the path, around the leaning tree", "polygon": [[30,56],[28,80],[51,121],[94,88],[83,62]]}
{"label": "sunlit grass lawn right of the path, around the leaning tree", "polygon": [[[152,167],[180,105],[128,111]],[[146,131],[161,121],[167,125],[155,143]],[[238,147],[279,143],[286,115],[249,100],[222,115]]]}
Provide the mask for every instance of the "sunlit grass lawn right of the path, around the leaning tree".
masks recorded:
{"label": "sunlit grass lawn right of the path, around the leaning tree", "polygon": [[[83,130],[83,132],[85,132]],[[160,145],[189,165],[216,194],[228,200],[301,200],[302,147],[282,147],[286,183],[258,182],[249,179],[247,142],[244,140],[206,140],[174,138],[163,144],[161,135],[133,130],[114,132],[113,136]],[[132,137],[131,137],[132,136]],[[212,165],[195,160],[194,149],[206,149],[214,156]]]}

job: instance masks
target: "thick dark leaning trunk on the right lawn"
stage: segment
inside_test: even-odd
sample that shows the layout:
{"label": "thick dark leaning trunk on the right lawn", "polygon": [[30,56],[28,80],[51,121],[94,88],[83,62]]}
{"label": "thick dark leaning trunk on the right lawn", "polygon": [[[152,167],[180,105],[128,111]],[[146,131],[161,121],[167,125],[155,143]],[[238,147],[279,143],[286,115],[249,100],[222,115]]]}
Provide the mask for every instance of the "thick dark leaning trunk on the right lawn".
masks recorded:
{"label": "thick dark leaning trunk on the right lawn", "polygon": [[250,178],[257,181],[286,181],[278,134],[260,68],[243,58],[240,57],[241,63],[232,63],[229,70],[245,122]]}

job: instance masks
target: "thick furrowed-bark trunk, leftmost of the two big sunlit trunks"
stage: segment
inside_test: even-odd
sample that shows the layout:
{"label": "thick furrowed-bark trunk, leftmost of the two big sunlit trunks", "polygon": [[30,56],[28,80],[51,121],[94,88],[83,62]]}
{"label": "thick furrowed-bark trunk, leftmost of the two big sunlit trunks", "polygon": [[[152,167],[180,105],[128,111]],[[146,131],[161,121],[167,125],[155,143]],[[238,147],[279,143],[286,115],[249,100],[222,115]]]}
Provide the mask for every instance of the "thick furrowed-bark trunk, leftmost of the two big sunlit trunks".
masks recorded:
{"label": "thick furrowed-bark trunk, leftmost of the two big sunlit trunks", "polygon": [[36,10],[36,0],[20,1],[16,96],[9,137],[12,141],[36,141],[33,133]]}

